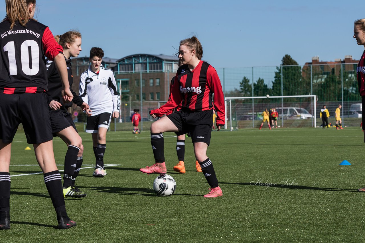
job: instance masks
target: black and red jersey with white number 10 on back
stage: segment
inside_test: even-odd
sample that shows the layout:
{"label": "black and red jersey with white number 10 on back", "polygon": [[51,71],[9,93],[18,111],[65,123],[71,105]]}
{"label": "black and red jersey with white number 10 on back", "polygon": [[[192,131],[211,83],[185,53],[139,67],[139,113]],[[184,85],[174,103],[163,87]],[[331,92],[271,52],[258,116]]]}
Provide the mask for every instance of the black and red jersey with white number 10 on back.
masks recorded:
{"label": "black and red jersey with white number 10 on back", "polygon": [[33,19],[26,26],[19,22],[0,23],[0,93],[37,93],[47,90],[45,56],[62,53],[49,28]]}

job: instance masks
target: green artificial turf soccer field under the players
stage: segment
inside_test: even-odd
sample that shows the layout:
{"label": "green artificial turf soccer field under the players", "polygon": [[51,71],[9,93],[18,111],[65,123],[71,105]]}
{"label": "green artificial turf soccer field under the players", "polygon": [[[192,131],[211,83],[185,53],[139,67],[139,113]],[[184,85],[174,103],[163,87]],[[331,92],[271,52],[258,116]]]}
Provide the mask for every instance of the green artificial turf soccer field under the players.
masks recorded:
{"label": "green artificial turf soccer field under the players", "polygon": [[[90,167],[95,160],[91,135],[80,135],[83,167]],[[0,231],[1,241],[364,241],[365,193],[357,192],[365,186],[360,128],[213,132],[208,156],[223,196],[210,199],[203,197],[209,186],[195,171],[190,138],[185,146],[187,172],[178,174],[173,171],[176,137],[164,136],[168,174],[177,183],[174,195],[155,196],[156,175],[139,172],[154,162],[149,132],[108,132],[104,161],[116,165],[106,168],[104,178],[92,177],[92,168],[81,170],[76,184],[87,197],[65,200],[77,226],[57,230],[43,175],[14,176],[40,171],[18,132],[10,166],[11,230]],[[54,139],[54,152],[57,164],[63,164],[66,145],[59,138]],[[352,165],[338,165],[342,160]]]}

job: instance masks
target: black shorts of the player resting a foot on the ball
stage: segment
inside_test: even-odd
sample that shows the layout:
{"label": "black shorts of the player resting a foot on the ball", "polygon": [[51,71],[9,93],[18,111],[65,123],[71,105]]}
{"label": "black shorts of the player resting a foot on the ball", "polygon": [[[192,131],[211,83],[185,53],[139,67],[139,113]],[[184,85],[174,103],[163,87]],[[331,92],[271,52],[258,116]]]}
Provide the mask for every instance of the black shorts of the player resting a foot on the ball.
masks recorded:
{"label": "black shorts of the player resting a foot on the ball", "polygon": [[167,115],[173,124],[179,129],[177,136],[191,132],[192,142],[205,142],[210,144],[213,126],[213,111],[175,111]]}

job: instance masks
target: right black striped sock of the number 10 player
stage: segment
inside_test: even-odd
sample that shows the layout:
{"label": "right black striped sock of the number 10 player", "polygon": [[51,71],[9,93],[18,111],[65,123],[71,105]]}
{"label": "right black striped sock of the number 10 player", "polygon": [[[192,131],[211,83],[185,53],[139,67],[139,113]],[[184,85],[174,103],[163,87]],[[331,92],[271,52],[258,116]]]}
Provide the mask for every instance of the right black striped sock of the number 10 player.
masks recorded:
{"label": "right black striped sock of the number 10 player", "polygon": [[67,217],[65,208],[64,192],[62,191],[62,179],[59,171],[51,171],[43,174],[49,196],[57,217]]}

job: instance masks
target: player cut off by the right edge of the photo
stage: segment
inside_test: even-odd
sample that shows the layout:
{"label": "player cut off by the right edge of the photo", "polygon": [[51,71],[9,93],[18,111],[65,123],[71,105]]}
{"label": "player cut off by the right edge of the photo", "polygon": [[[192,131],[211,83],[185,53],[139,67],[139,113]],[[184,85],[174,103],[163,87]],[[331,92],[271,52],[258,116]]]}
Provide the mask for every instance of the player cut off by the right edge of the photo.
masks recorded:
{"label": "player cut off by the right edge of the photo", "polygon": [[[364,46],[364,52],[356,68],[357,82],[361,95],[362,107],[365,105],[365,19],[356,20],[354,23],[354,36],[359,46]],[[362,130],[364,130],[365,142],[365,115],[362,116]],[[360,192],[365,192],[365,187],[358,189]]]}

